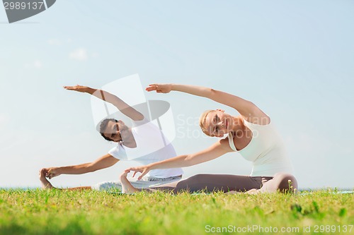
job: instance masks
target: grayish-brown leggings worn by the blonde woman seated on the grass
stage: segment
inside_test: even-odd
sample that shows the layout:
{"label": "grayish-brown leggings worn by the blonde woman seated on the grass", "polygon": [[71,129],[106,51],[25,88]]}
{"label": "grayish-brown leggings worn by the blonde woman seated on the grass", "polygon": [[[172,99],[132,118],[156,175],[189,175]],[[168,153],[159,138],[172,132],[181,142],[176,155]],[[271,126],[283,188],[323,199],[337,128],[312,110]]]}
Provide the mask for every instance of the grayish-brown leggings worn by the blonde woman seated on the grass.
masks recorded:
{"label": "grayish-brown leggings worn by the blonde woman seated on the grass", "polygon": [[159,187],[152,187],[154,190],[169,190],[174,193],[187,191],[190,193],[197,191],[293,191],[297,188],[297,181],[294,176],[287,173],[277,173],[270,176],[236,176],[232,174],[197,174],[188,179],[176,183],[164,184]]}

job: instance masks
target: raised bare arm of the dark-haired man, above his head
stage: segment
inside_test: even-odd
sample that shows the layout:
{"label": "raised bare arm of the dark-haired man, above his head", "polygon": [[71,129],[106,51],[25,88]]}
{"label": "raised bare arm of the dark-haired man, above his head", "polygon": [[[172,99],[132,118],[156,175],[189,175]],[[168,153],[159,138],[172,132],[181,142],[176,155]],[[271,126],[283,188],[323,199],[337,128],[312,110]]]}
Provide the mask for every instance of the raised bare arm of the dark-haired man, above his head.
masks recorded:
{"label": "raised bare arm of the dark-haired man, above his head", "polygon": [[77,92],[84,92],[84,93],[89,93],[91,95],[94,95],[98,97],[98,99],[113,104],[115,107],[117,107],[117,109],[120,110],[120,112],[122,112],[122,114],[125,114],[125,116],[128,116],[130,119],[134,121],[140,121],[144,119],[144,116],[141,113],[137,112],[136,109],[130,107],[129,104],[120,100],[119,97],[111,94],[110,92],[89,88],[83,85],[64,86],[64,88],[67,90],[74,90]]}

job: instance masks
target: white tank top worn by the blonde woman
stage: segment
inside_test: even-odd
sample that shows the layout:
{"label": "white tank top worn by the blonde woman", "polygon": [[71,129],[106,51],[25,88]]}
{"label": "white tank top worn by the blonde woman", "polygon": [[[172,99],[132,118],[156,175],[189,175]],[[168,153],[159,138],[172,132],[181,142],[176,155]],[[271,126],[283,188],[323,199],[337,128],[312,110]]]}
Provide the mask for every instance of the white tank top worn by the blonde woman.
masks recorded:
{"label": "white tank top worn by the blonde woman", "polygon": [[236,150],[232,133],[229,133],[229,145],[232,150],[253,163],[251,176],[274,176],[279,172],[292,174],[292,164],[285,145],[273,123],[258,125],[244,120],[244,124],[253,133],[249,145]]}

